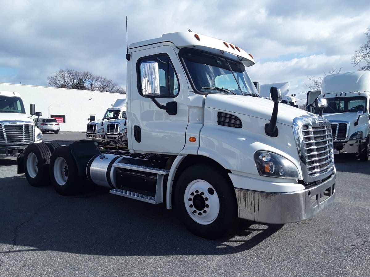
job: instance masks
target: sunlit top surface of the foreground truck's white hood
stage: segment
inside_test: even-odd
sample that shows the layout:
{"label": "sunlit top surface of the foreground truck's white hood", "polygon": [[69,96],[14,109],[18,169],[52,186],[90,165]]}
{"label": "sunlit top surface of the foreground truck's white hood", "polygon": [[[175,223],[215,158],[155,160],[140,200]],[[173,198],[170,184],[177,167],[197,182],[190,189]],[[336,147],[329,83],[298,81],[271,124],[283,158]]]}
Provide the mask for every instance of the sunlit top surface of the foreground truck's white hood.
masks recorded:
{"label": "sunlit top surface of the foreground truck's white hood", "polygon": [[[205,107],[239,113],[260,119],[270,120],[274,102],[268,99],[242,95],[207,95]],[[277,122],[292,126],[295,117],[307,115],[304,110],[279,103]]]}

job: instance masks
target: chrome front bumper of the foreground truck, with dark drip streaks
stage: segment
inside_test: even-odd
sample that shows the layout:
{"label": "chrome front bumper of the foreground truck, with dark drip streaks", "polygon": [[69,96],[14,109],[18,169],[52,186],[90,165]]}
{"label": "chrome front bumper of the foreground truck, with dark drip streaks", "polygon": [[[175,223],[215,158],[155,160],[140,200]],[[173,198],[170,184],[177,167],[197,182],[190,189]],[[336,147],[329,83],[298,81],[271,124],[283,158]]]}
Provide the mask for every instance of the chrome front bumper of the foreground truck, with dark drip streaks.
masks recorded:
{"label": "chrome front bumper of the foreground truck, with dark drip streaks", "polygon": [[315,187],[295,192],[235,189],[239,218],[264,223],[289,223],[312,217],[334,201],[335,174]]}

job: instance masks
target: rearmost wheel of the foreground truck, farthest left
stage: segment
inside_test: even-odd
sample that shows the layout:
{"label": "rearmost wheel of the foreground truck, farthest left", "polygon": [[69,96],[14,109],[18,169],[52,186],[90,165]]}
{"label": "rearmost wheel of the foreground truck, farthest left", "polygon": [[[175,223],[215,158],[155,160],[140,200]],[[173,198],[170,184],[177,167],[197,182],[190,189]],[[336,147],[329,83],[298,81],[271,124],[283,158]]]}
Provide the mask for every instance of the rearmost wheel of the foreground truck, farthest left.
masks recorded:
{"label": "rearmost wheel of the foreground truck, farthest left", "polygon": [[23,167],[28,183],[33,187],[50,184],[50,150],[42,143],[30,144],[24,150]]}

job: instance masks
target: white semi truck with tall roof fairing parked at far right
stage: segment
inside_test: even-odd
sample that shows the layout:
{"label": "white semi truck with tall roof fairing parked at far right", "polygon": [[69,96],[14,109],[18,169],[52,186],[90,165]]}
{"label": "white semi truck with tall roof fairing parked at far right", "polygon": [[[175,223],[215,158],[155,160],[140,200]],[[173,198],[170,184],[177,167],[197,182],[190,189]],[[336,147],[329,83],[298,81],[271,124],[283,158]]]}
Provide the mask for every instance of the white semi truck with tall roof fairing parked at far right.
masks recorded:
{"label": "white semi truck with tall roof fairing parked at far right", "polygon": [[331,124],[334,154],[355,154],[361,161],[367,161],[370,71],[326,75],[321,90],[307,93],[307,110],[320,112],[314,105],[317,97],[328,102],[322,116]]}

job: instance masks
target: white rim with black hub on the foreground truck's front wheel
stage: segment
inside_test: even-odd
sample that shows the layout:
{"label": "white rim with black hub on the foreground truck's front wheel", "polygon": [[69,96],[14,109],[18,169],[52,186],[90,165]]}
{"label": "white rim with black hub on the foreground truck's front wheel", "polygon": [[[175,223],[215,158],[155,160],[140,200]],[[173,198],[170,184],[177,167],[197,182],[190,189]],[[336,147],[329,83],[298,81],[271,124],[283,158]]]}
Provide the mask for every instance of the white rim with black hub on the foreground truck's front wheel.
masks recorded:
{"label": "white rim with black hub on the foreground truck's front wheel", "polygon": [[202,225],[215,221],[220,211],[215,188],[204,180],[194,180],[186,187],[184,202],[189,216]]}

